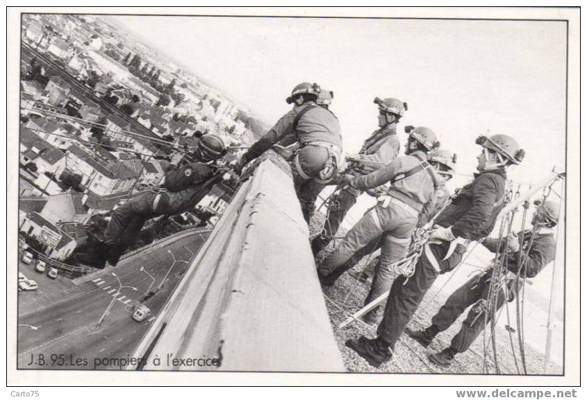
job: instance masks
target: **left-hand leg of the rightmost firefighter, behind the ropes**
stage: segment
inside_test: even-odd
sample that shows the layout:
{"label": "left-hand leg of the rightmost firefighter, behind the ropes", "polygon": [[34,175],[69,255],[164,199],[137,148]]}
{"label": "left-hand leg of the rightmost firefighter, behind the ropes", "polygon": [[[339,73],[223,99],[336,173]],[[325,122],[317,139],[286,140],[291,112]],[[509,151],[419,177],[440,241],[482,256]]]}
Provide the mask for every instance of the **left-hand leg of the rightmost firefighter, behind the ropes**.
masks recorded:
{"label": "left-hand leg of the rightmost firefighter, behind the ropes", "polygon": [[435,331],[441,332],[448,329],[468,306],[481,299],[483,286],[484,280],[476,276],[456,289],[445,304],[440,307],[438,313],[432,317],[432,325],[435,327]]}

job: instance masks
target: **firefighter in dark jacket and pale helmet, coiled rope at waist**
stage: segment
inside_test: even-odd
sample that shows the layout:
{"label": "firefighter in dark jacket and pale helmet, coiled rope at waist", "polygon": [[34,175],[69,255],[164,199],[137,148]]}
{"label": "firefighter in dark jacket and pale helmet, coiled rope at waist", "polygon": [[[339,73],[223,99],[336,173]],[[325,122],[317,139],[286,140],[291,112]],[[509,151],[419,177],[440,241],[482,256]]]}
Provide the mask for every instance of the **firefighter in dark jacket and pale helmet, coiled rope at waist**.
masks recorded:
{"label": "firefighter in dark jacket and pale helmet, coiled rope at waist", "polygon": [[[424,245],[413,276],[399,276],[393,282],[377,338],[361,336],[346,342],[347,347],[374,367],[390,360],[395,343],[438,275],[453,270],[461,262],[466,246],[459,242],[488,236],[504,206],[506,168],[520,164],[524,150],[505,134],[481,136],[476,143],[482,147],[477,157],[479,174],[436,218],[437,225],[431,231],[429,243]],[[452,241],[456,238],[461,239],[455,247]]]}

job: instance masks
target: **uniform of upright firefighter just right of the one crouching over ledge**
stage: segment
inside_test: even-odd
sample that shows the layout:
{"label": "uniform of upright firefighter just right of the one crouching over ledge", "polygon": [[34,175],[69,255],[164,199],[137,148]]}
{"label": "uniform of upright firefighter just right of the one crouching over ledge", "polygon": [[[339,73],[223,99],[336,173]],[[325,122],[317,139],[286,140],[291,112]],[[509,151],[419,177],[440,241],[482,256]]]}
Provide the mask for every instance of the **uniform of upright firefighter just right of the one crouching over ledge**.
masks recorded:
{"label": "uniform of upright firefighter just right of the one crouching over ledge", "polygon": [[[377,163],[381,163],[381,166],[388,164],[397,157],[398,153],[399,140],[397,139],[395,124],[378,129],[365,140],[361,151],[358,152],[361,160],[367,163],[353,162],[349,173],[355,176],[372,173],[377,168],[380,168]],[[356,199],[361,194],[359,189],[346,184],[338,186],[336,190],[339,191],[337,205],[329,210],[328,218],[324,221],[322,234],[313,238],[312,250],[314,255],[326,247],[333,236],[336,235],[342,220],[345,219],[347,212],[355,205]]]}

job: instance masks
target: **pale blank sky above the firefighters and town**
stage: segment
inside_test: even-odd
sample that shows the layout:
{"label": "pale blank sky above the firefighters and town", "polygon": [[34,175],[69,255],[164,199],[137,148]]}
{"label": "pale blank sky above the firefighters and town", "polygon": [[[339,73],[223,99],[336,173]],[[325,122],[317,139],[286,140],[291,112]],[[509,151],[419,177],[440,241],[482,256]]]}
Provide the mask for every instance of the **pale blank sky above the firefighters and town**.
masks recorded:
{"label": "pale blank sky above the firefighters and town", "polygon": [[[555,21],[116,17],[267,124],[292,87],[333,90],[345,151],[377,129],[373,98],[408,103],[399,123],[427,126],[458,156],[453,188],[470,180],[479,134],[526,150],[509,177],[536,183],[565,165],[566,28]],[[527,186],[522,186],[522,191]],[[561,193],[563,194],[563,193]],[[354,210],[356,218],[362,210]],[[534,287],[549,290],[550,272]],[[538,278],[537,278],[538,280]]]}

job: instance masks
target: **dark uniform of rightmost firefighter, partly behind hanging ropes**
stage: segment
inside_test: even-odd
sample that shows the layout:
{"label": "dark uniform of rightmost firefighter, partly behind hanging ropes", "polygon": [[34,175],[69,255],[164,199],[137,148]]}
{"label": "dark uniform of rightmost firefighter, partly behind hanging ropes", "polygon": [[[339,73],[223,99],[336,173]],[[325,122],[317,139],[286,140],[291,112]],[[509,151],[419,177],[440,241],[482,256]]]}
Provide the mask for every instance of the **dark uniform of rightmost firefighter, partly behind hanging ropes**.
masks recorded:
{"label": "dark uniform of rightmost firefighter, partly behind hanging ropes", "polygon": [[[541,232],[546,231],[546,232]],[[550,229],[539,229],[530,244],[532,231],[527,230],[518,233],[522,235],[522,254],[526,254],[528,246],[527,259],[524,261],[522,269],[520,270],[520,278],[533,278],[538,275],[538,272],[543,270],[548,263],[554,260],[554,250],[556,243],[554,241],[554,234]],[[486,239],[483,245],[488,247],[492,252],[497,251],[497,239]],[[492,308],[487,311],[487,302],[490,286],[491,276],[493,270],[481,272],[476,277],[470,279],[463,286],[455,290],[447,299],[440,311],[432,318],[431,328],[434,334],[448,329],[457,318],[472,304],[475,304],[469,311],[467,319],[463,322],[461,330],[452,339],[450,347],[455,353],[462,353],[466,351],[470,345],[477,339],[479,333],[483,331],[487,320],[492,318],[499,308],[502,308],[504,303],[515,299],[516,294],[522,286],[521,279],[515,279],[518,274],[518,253],[509,254],[506,268],[509,270],[508,276],[504,279],[504,286],[502,290],[497,293],[497,305],[495,309]],[[508,297],[506,297],[506,290]]]}

